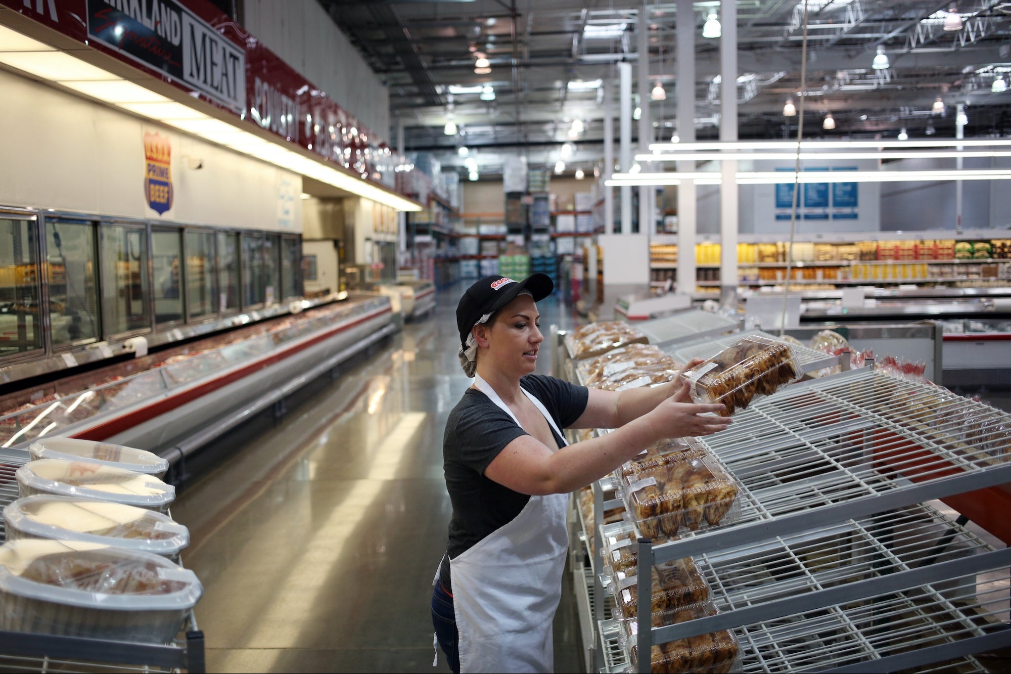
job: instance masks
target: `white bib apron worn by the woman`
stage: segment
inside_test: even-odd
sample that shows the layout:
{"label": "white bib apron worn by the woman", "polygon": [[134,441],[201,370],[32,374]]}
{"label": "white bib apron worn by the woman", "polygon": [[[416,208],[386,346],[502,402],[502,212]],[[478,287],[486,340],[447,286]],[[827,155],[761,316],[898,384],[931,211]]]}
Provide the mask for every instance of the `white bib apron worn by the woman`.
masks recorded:
{"label": "white bib apron worn by the woman", "polygon": [[[480,375],[474,386],[520,425]],[[567,444],[541,401],[523,393]],[[515,519],[450,560],[461,672],[554,671],[552,622],[568,551],[568,500],[531,496]]]}

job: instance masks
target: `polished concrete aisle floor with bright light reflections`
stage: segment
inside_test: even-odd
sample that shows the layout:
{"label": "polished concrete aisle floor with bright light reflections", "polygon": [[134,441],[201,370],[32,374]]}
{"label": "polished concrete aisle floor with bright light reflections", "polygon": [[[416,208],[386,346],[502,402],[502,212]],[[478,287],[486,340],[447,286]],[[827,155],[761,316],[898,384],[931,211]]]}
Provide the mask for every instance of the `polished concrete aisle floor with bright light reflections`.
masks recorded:
{"label": "polished concrete aisle floor with bright light reflections", "polygon": [[[450,517],[442,434],[468,385],[456,357],[465,287],[317,382],[277,425],[251,421],[221,443],[242,448],[182,491],[173,515],[190,527],[184,563],[205,588],[208,671],[448,671],[441,657],[432,668],[429,601]],[[554,299],[541,311],[545,331],[572,325]],[[581,669],[569,589],[559,672]]]}

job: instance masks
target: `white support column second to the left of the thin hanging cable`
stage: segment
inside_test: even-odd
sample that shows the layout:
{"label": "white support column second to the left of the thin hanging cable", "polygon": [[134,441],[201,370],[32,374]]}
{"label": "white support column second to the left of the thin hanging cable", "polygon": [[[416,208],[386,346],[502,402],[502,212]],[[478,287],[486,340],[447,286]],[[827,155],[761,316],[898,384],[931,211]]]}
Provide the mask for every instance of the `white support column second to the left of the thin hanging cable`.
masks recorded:
{"label": "white support column second to the left of the thin hanging cable", "polygon": [[[695,9],[694,0],[677,0],[677,136],[695,142]],[[677,162],[678,171],[695,171],[695,162]],[[677,289],[696,286],[696,187],[691,180],[677,186]]]}

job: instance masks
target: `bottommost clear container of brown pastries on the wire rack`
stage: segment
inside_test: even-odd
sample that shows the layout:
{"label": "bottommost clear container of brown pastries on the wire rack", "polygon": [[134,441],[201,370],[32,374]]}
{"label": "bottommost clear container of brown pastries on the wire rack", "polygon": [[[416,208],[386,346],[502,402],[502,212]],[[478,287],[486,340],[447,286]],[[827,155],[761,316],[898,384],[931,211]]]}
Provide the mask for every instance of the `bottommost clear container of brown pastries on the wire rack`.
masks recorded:
{"label": "bottommost clear container of brown pastries on the wire rack", "polygon": [[[675,624],[718,613],[712,602],[697,604],[686,608],[665,611],[660,624]],[[638,671],[639,653],[636,647],[638,622],[621,620],[619,643],[629,653],[632,666],[629,672]],[[655,624],[653,626],[660,626]],[[693,672],[699,674],[727,674],[741,671],[740,648],[734,633],[721,629],[688,639],[679,639],[666,644],[656,644],[651,649],[650,670],[663,674]]]}

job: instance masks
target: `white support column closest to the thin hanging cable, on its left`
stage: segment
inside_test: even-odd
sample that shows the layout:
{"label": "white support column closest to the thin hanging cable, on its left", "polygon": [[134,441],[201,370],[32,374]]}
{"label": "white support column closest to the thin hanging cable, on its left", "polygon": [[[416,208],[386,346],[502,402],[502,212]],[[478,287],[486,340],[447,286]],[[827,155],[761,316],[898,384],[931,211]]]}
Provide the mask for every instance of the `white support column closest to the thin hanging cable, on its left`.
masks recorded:
{"label": "white support column closest to the thin hanging cable, on its left", "polygon": [[[720,140],[737,140],[737,2],[720,3]],[[737,298],[737,160],[720,168],[720,299]]]}

